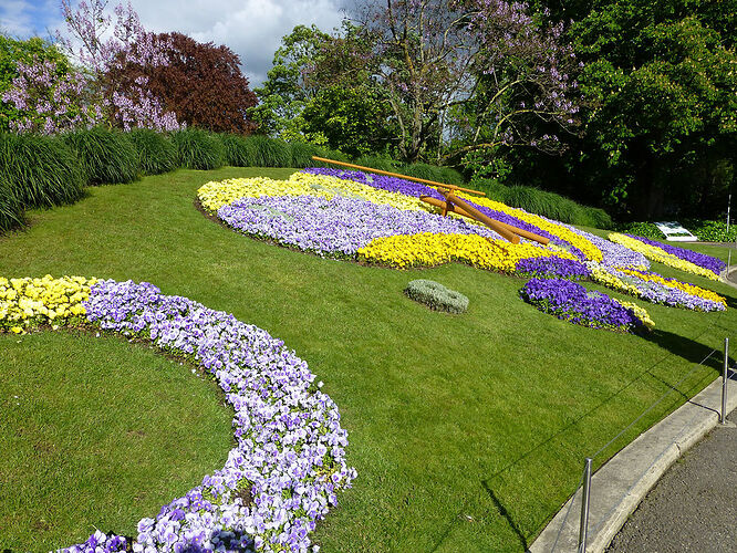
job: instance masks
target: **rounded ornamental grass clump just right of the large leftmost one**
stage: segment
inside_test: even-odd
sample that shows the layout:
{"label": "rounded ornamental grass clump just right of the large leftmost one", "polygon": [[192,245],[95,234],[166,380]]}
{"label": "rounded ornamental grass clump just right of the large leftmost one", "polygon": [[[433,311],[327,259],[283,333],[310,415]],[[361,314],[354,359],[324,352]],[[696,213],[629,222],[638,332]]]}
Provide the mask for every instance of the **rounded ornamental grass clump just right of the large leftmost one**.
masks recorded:
{"label": "rounded ornamental grass clump just right of the large leftmost one", "polygon": [[104,127],[62,135],[82,161],[89,185],[132,182],[138,177],[138,156],[120,131]]}

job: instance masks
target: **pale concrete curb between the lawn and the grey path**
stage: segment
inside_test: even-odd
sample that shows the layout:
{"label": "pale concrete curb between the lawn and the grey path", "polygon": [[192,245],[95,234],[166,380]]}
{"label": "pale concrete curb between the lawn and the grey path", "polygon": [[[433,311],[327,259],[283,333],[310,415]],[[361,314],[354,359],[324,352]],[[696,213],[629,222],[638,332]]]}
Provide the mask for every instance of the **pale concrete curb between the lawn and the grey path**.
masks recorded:
{"label": "pale concrete curb between the lawn and the grey path", "polygon": [[[737,407],[737,379],[727,383],[727,411]],[[661,476],[719,421],[722,378],[610,459],[591,479],[585,553],[603,552]],[[583,459],[581,459],[583,471]],[[563,505],[528,553],[578,551],[581,489]]]}

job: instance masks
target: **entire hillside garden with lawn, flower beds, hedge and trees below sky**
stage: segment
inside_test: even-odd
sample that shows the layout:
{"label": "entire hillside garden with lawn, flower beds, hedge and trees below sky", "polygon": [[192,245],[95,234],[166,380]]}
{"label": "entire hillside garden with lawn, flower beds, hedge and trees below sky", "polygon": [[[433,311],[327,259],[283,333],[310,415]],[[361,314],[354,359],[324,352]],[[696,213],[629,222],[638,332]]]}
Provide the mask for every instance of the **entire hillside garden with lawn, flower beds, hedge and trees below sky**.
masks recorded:
{"label": "entire hillside garden with lawn, flower beds, hedge and trees below sky", "polygon": [[[131,4],[0,36],[0,550],[526,551],[583,458],[714,380],[737,328],[731,246],[632,222],[720,216],[731,104],[633,136],[624,94],[707,63],[668,101],[718,103],[733,20],[605,3],[569,27],[546,2],[369,2],[298,25],[256,94],[228,48]],[[629,74],[594,32],[624,4]],[[698,66],[648,58],[674,41]],[[702,176],[678,206],[672,156]],[[471,191],[446,212],[413,177]]]}

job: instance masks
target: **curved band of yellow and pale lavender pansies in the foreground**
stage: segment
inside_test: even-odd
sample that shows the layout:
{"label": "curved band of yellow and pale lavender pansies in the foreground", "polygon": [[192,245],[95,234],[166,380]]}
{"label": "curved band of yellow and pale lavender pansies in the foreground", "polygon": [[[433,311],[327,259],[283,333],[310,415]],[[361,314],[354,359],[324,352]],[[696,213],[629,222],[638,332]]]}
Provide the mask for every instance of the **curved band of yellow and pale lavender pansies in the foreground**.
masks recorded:
{"label": "curved band of yellow and pale lavender pansies in the foreground", "polygon": [[338,407],[304,361],[261,328],[148,283],[0,279],[0,331],[79,324],[204,367],[235,409],[237,446],[222,469],[143,519],[135,540],[96,532],[61,551],[309,551],[316,521],[356,473]]}

